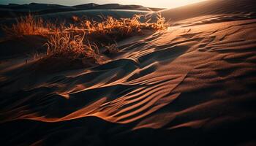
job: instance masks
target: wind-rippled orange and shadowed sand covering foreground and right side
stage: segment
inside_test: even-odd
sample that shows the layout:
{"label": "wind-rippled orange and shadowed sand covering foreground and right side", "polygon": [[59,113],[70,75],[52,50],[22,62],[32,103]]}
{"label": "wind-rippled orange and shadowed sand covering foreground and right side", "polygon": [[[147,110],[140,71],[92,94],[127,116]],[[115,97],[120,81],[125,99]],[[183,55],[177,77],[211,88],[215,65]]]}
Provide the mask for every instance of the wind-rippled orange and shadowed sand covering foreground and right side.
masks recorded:
{"label": "wind-rippled orange and shadowed sand covering foreground and right side", "polygon": [[255,11],[254,0],[161,11],[167,30],[83,69],[39,72],[7,51],[1,145],[256,145]]}

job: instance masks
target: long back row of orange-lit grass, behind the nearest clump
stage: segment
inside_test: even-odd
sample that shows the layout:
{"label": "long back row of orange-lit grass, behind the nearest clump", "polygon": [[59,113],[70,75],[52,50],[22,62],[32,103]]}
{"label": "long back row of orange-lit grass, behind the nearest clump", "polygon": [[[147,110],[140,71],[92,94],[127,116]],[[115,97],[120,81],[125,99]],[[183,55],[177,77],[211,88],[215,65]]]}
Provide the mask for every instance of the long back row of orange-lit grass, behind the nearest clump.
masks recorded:
{"label": "long back row of orange-lit grass, behind the nearest clump", "polygon": [[72,19],[78,22],[78,25],[70,24],[65,27],[65,24],[57,28],[53,23],[47,23],[42,18],[35,18],[31,14],[18,18],[17,23],[12,24],[11,27],[3,26],[3,30],[7,36],[19,37],[23,35],[46,35],[54,34],[56,30],[69,31],[76,33],[85,33],[86,35],[112,35],[112,36],[129,36],[139,33],[142,29],[161,30],[167,28],[165,18],[160,14],[157,15],[156,23],[141,22],[140,18],[143,15],[134,15],[132,18],[116,19],[108,16],[102,17],[102,22],[91,20],[80,20],[80,18],[73,16]]}

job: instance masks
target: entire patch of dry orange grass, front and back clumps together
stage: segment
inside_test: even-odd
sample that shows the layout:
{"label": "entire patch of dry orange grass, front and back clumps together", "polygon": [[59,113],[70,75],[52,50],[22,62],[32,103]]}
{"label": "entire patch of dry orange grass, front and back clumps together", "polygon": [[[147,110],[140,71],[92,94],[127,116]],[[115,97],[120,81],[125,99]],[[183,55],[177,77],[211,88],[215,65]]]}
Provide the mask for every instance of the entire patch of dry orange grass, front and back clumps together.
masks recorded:
{"label": "entire patch of dry orange grass, front and back clumps together", "polygon": [[108,16],[102,17],[101,22],[93,20],[81,20],[73,16],[75,24],[61,24],[59,27],[53,23],[47,23],[42,18],[34,18],[32,15],[19,18],[17,23],[10,27],[3,26],[8,37],[23,37],[26,35],[41,35],[48,39],[45,46],[48,47],[44,58],[65,58],[76,60],[85,58],[97,62],[100,55],[99,45],[105,47],[105,53],[118,52],[117,44],[120,39],[141,34],[144,29],[157,31],[167,28],[165,18],[157,15],[157,22],[151,20],[141,22],[142,15],[134,15],[132,18],[116,19]]}

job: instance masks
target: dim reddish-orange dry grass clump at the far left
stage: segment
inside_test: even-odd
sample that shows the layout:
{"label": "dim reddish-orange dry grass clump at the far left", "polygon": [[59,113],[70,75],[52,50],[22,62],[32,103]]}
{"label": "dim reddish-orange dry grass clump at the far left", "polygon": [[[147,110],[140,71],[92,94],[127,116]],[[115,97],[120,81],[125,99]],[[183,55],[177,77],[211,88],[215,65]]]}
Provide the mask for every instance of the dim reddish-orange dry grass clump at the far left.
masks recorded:
{"label": "dim reddish-orange dry grass clump at the far left", "polygon": [[7,37],[22,37],[23,35],[43,35],[49,33],[50,23],[44,23],[42,18],[34,18],[31,14],[18,18],[11,27],[2,26]]}

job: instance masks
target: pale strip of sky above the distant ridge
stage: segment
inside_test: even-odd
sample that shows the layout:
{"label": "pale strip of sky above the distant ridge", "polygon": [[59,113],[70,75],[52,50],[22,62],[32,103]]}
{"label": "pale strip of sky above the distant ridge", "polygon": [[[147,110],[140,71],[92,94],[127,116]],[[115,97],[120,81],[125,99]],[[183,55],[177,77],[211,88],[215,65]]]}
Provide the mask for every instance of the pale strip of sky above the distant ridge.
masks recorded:
{"label": "pale strip of sky above the distant ridge", "polygon": [[31,2],[44,3],[44,4],[63,4],[67,6],[96,3],[96,4],[140,4],[145,7],[161,7],[173,8],[180,7],[187,4],[196,3],[203,0],[0,0],[0,4],[29,4]]}

